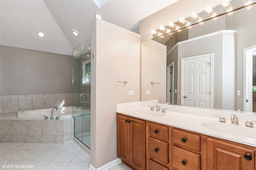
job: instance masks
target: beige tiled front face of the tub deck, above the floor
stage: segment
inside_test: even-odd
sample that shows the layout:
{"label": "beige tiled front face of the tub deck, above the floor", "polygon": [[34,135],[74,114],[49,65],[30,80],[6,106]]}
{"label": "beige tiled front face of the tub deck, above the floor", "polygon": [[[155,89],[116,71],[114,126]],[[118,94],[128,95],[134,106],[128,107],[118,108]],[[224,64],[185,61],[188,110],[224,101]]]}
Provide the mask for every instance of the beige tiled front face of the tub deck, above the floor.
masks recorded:
{"label": "beige tiled front face of the tub deck, above the floor", "polygon": [[17,118],[17,113],[0,115],[0,142],[66,143],[74,136],[74,119],[44,120]]}

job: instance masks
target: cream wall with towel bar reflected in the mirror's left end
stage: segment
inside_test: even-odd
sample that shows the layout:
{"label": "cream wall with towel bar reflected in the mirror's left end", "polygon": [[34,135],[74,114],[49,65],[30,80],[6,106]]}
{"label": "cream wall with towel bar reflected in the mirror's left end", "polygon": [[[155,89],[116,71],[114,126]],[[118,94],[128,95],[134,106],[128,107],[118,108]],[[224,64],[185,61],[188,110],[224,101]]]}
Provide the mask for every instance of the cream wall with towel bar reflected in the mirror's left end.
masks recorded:
{"label": "cream wall with towel bar reflected in the mirror's left end", "polygon": [[[141,98],[166,103],[166,45],[153,40],[141,43]],[[151,84],[150,82],[160,84]],[[146,95],[146,91],[150,91]]]}

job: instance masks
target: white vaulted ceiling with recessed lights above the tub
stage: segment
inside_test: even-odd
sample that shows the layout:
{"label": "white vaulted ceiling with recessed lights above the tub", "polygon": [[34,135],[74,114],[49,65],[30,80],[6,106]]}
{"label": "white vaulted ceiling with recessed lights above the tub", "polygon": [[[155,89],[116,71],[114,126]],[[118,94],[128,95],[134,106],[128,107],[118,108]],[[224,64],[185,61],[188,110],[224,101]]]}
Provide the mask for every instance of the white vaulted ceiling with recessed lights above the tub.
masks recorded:
{"label": "white vaulted ceiling with recessed lights above the tub", "polygon": [[[76,46],[90,39],[95,13],[132,30],[143,18],[176,1],[0,0],[0,45],[72,55]],[[45,33],[42,38],[36,35],[40,31]]]}

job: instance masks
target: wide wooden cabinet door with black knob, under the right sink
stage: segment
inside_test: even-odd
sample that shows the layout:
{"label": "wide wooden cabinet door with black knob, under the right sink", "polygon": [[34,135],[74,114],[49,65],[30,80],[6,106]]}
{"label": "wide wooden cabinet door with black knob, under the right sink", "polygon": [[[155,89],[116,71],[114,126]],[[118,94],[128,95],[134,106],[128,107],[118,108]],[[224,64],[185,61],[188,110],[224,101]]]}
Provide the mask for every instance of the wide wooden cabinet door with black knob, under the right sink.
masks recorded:
{"label": "wide wooden cabinet door with black knob, under the right sink", "polygon": [[208,138],[207,170],[254,170],[254,150]]}

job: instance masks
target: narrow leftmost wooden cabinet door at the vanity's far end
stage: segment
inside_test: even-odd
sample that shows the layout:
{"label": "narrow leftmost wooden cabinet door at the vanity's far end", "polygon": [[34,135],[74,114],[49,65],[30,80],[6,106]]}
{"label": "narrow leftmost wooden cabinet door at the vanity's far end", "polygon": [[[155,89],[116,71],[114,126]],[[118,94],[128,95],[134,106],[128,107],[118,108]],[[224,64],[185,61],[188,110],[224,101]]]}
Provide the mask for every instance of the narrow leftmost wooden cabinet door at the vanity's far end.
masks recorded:
{"label": "narrow leftmost wooden cabinet door at the vanity's far end", "polygon": [[117,156],[129,163],[129,123],[128,117],[117,115]]}

